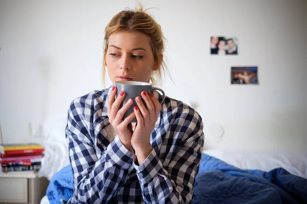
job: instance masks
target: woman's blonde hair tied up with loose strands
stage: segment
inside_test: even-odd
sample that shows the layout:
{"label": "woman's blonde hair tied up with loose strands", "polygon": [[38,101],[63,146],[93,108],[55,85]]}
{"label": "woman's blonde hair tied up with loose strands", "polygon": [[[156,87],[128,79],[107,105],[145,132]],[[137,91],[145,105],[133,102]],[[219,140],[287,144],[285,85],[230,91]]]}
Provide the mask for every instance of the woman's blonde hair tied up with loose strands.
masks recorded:
{"label": "woman's blonde hair tied up with loose strands", "polygon": [[[147,10],[147,9],[146,9]],[[138,31],[150,38],[150,46],[153,53],[153,60],[157,61],[158,69],[152,71],[150,81],[152,85],[162,85],[165,79],[165,71],[170,77],[169,70],[160,54],[164,52],[164,36],[161,26],[153,17],[147,14],[139,2],[139,8],[136,10],[124,10],[116,14],[105,27],[104,46],[103,46],[103,64],[102,64],[102,80],[105,87],[105,65],[106,52],[108,48],[109,37],[119,31]],[[155,75],[158,80],[155,79]],[[171,77],[170,77],[171,78]],[[157,83],[158,82],[158,83]]]}

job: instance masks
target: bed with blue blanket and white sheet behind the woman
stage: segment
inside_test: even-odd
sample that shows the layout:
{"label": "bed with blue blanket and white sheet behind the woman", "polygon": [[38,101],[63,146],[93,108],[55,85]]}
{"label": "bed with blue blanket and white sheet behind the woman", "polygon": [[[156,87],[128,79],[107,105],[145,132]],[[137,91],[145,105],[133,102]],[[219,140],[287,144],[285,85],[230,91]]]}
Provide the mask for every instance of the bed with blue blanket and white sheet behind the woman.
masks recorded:
{"label": "bed with blue blanket and white sheet behind the woman", "polygon": [[[307,203],[306,159],[303,152],[206,150],[193,203]],[[51,203],[72,195],[69,178],[69,165],[53,176],[49,193],[58,195],[49,194]],[[49,203],[47,196],[40,203]]]}

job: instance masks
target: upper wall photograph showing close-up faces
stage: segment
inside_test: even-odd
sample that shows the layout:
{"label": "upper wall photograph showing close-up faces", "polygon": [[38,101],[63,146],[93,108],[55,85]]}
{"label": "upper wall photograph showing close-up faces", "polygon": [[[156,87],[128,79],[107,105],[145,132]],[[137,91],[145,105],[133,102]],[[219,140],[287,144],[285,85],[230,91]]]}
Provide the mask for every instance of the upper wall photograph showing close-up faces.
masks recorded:
{"label": "upper wall photograph showing close-up faces", "polygon": [[210,38],[211,55],[237,55],[238,39],[236,37],[219,37]]}

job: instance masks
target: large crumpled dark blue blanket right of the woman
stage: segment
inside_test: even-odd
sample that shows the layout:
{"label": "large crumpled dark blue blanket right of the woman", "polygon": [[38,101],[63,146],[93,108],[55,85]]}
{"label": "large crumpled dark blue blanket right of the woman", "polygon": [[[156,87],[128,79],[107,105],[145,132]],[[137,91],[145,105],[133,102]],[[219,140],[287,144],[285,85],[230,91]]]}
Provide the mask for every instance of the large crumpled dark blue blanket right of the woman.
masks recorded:
{"label": "large crumpled dark blue blanket right of the woman", "polygon": [[194,186],[198,203],[307,203],[307,180],[282,168],[242,170],[203,154]]}

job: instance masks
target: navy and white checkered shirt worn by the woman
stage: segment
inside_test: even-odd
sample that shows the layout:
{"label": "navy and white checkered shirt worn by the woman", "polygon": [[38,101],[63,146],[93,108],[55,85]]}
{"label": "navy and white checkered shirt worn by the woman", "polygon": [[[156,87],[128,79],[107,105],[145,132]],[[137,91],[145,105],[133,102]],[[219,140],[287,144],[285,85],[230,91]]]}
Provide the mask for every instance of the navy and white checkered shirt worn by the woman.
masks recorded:
{"label": "navy and white checkered shirt worn by the woman", "polygon": [[71,103],[65,132],[75,187],[68,203],[191,203],[204,144],[200,115],[166,97],[151,132],[153,149],[138,165],[119,137],[107,134],[110,92]]}

